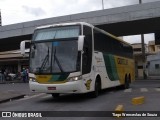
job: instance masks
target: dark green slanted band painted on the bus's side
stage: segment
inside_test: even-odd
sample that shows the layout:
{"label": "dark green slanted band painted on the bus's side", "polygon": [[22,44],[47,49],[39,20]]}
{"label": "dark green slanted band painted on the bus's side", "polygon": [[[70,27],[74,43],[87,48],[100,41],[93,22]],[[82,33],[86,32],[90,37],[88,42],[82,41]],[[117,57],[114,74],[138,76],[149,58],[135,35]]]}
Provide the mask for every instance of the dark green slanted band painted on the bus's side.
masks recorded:
{"label": "dark green slanted band painted on the bus's side", "polygon": [[119,80],[114,56],[110,54],[103,54],[103,57],[109,79],[112,81]]}

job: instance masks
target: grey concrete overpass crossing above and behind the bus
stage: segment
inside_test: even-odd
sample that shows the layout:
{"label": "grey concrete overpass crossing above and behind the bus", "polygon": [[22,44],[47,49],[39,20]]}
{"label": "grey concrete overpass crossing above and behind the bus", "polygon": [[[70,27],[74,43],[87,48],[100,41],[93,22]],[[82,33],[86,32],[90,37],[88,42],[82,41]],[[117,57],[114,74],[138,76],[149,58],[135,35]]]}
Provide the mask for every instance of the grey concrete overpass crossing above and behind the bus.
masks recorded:
{"label": "grey concrete overpass crossing above and behind the bus", "polygon": [[0,26],[0,52],[19,49],[20,42],[31,39],[37,26],[74,21],[91,23],[117,36],[153,33],[160,29],[160,2]]}

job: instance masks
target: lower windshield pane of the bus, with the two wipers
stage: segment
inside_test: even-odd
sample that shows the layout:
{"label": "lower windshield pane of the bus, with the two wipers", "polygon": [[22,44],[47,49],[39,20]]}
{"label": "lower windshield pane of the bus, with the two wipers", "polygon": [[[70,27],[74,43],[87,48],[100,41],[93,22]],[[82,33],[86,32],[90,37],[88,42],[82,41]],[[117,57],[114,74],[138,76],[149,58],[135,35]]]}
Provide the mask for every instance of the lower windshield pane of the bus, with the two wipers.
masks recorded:
{"label": "lower windshield pane of the bus, with the two wipers", "polygon": [[30,72],[64,73],[80,69],[78,42],[56,41],[31,45]]}

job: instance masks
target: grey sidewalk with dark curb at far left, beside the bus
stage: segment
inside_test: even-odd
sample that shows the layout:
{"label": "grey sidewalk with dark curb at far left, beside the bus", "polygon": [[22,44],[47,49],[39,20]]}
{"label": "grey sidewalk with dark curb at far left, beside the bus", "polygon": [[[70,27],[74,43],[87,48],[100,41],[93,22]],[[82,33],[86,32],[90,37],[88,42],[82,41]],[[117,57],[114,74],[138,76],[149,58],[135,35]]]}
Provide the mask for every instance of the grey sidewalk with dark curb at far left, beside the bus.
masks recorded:
{"label": "grey sidewalk with dark curb at far left, beside the bus", "polygon": [[0,83],[0,103],[23,98],[26,94],[29,94],[28,83],[20,80]]}

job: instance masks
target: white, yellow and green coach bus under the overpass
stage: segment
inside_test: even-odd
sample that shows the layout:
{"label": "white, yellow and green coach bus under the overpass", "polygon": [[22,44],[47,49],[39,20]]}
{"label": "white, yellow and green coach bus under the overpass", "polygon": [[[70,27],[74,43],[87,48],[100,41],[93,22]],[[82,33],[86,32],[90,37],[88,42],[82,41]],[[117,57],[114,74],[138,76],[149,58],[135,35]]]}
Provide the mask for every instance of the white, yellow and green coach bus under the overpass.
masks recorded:
{"label": "white, yellow and green coach bus under the overpass", "polygon": [[102,89],[129,88],[135,79],[132,46],[85,22],[37,27],[29,61],[30,90],[54,98],[65,93],[97,97]]}

